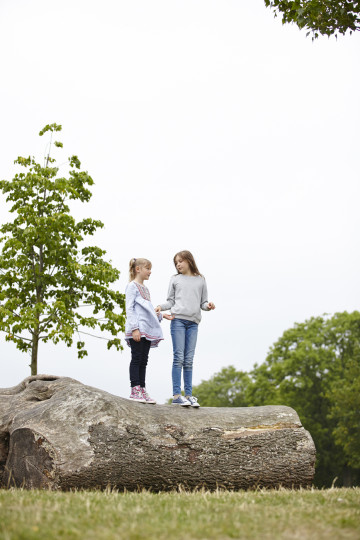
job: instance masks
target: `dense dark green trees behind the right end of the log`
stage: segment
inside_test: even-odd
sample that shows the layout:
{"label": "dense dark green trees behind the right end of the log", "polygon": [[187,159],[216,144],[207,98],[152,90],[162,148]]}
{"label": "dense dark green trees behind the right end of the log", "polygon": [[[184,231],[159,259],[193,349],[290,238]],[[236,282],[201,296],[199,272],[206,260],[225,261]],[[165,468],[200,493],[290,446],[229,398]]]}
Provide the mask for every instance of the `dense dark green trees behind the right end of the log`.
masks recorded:
{"label": "dense dark green trees behind the right end of the log", "polygon": [[359,312],[295,324],[250,373],[225,367],[193,391],[208,407],[294,408],[317,449],[315,484],[359,485]]}

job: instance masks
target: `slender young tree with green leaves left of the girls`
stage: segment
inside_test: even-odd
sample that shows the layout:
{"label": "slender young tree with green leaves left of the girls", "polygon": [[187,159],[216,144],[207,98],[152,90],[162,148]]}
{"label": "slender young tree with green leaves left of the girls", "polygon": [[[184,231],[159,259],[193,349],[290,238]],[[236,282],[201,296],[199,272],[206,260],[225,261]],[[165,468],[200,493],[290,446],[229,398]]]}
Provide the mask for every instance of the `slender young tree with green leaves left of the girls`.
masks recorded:
{"label": "slender young tree with green leaves left of the girls", "polygon": [[[51,124],[39,135],[50,132],[51,148],[58,131],[61,126]],[[76,222],[68,206],[69,201],[88,202],[88,186],[94,182],[80,170],[77,156],[69,158],[68,178],[58,176],[55,162],[50,150],[44,166],[30,156],[19,157],[15,163],[25,172],[0,181],[15,214],[0,227],[0,330],[18,349],[31,352],[32,375],[37,373],[40,341],[70,346],[76,334],[78,357],[86,356],[80,337],[86,334],[84,327],[110,332],[108,348],[122,349],[117,335],[124,330],[124,295],[110,289],[119,271],[103,259],[105,251],[99,247],[79,248],[103,223],[91,218]]]}

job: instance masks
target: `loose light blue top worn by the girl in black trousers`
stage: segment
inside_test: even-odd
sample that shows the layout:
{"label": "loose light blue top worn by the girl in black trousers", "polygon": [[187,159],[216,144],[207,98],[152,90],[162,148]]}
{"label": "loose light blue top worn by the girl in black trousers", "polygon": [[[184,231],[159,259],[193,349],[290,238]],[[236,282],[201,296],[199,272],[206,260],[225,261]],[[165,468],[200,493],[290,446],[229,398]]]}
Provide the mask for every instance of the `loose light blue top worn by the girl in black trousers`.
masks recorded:
{"label": "loose light blue top worn by the girl in black trousers", "polygon": [[145,285],[131,281],[125,290],[126,323],[125,340],[130,345],[133,330],[139,330],[141,337],[151,341],[150,347],[157,347],[163,338],[160,326],[161,313],[156,313],[150,300],[150,292]]}

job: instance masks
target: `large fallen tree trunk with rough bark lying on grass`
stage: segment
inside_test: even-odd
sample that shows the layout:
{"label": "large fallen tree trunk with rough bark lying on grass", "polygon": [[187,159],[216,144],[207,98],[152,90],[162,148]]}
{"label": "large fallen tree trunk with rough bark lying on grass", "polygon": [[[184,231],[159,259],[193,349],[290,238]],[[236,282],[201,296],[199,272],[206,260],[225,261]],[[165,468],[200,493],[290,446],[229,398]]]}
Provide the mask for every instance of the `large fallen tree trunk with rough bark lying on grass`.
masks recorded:
{"label": "large fallen tree trunk with rough bark lying on grass", "polygon": [[300,487],[314,462],[289,407],[146,405],[48,375],[0,389],[2,487]]}

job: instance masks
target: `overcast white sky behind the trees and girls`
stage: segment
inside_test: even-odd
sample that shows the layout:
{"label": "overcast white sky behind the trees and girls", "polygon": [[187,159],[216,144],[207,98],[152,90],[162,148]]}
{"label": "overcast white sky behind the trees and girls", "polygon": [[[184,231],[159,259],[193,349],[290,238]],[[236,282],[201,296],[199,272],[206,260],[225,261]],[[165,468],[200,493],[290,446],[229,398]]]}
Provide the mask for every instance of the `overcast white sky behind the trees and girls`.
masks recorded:
{"label": "overcast white sky behind the trees and girls", "polygon": [[[359,308],[360,35],[312,42],[263,0],[1,0],[0,177],[77,154],[95,180],[93,243],[121,270],[153,262],[154,305],[172,257],[193,252],[216,310],[204,313],[194,383],[250,370],[295,322]],[[62,171],[66,172],[66,169]],[[0,222],[9,219],[0,196]],[[147,385],[171,395],[172,347],[151,351]],[[41,345],[39,372],[128,396],[130,350],[88,338]],[[30,374],[0,336],[0,387]]]}

